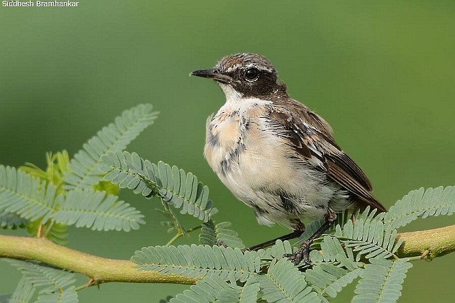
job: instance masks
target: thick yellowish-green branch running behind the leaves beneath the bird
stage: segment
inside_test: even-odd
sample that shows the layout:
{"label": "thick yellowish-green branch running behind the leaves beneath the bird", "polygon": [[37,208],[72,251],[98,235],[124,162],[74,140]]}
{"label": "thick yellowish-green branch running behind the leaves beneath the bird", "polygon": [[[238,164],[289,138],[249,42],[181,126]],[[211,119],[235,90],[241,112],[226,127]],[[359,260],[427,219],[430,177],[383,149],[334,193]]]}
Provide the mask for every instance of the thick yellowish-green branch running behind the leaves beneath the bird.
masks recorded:
{"label": "thick yellowish-green branch running behind the leaves beneath the bird", "polygon": [[[396,252],[398,258],[427,257],[429,260],[455,251],[455,225],[399,233],[403,245]],[[94,281],[194,284],[196,279],[181,275],[136,271],[129,260],[114,260],[89,255],[55,244],[43,238],[24,238],[0,235],[0,258],[36,260],[53,267],[81,273]]]}

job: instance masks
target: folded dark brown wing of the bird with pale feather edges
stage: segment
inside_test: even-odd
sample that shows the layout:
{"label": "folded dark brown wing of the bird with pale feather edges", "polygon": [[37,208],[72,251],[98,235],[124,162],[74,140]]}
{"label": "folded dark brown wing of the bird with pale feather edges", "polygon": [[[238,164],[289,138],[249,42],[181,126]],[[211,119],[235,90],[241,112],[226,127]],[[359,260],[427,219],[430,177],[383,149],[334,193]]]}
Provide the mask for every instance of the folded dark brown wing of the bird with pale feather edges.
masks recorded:
{"label": "folded dark brown wing of the bird with pale feather edges", "polygon": [[354,160],[335,143],[332,129],[323,118],[297,101],[286,103],[285,107],[270,107],[268,114],[270,121],[281,127],[284,134],[281,136],[297,154],[307,159],[319,159],[322,165],[316,168],[323,169],[327,176],[364,202],[363,207],[370,205],[378,211],[386,211],[370,193],[370,180]]}

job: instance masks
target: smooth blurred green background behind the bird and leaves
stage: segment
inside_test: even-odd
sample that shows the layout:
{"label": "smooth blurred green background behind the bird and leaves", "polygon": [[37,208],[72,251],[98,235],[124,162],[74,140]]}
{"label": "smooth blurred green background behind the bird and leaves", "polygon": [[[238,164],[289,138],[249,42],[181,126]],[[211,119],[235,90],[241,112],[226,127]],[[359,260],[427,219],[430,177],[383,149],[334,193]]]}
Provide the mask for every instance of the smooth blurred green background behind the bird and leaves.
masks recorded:
{"label": "smooth blurred green background behind the bird and leaves", "polygon": [[[387,207],[412,189],[455,185],[455,1],[81,0],[77,8],[0,7],[0,28],[3,165],[44,167],[46,151],[73,155],[123,109],[152,103],[158,121],[128,150],[196,174],[211,189],[216,220],[231,221],[247,245],[279,236],[287,231],[259,226],[205,163],[205,118],[224,96],[188,76],[221,56],[257,52],[274,63],[292,97],[331,123]],[[72,228],[68,246],[128,259],[172,237],[154,211],[158,200],[121,196],[143,211],[145,226]],[[417,220],[403,231],[453,223],[453,216]],[[194,234],[179,243],[196,241]],[[455,254],[414,262],[401,302],[452,302],[454,268]],[[18,280],[0,262],[0,294]],[[79,297],[158,302],[186,287],[111,283]]]}

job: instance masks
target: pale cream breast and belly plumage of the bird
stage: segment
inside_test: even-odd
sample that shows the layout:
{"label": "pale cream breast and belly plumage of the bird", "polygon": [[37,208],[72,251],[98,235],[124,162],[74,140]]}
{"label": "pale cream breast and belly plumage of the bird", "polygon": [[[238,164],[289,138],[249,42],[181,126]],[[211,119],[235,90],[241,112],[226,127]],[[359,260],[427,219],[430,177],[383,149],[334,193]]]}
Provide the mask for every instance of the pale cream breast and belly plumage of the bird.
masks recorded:
{"label": "pale cream breast and belly plumage of the bird", "polygon": [[234,196],[254,208],[260,223],[292,227],[301,217],[323,218],[340,187],[294,153],[285,129],[268,116],[272,105],[255,98],[223,105],[208,119],[205,158]]}

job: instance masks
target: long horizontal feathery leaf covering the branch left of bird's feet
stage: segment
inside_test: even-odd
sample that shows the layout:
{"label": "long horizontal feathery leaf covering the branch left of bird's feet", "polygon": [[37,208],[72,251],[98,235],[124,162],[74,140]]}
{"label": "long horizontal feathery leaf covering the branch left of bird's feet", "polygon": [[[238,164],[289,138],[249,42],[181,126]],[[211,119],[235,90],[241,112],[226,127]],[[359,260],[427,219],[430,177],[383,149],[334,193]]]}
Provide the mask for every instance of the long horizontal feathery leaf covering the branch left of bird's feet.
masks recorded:
{"label": "long horizontal feathery leaf covering the branch left of bird's feet", "polygon": [[255,251],[244,253],[236,248],[208,245],[179,245],[178,247],[144,247],[131,258],[142,271],[159,271],[192,278],[219,275],[245,282],[252,273],[261,270],[261,259]]}

